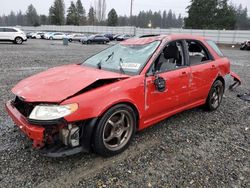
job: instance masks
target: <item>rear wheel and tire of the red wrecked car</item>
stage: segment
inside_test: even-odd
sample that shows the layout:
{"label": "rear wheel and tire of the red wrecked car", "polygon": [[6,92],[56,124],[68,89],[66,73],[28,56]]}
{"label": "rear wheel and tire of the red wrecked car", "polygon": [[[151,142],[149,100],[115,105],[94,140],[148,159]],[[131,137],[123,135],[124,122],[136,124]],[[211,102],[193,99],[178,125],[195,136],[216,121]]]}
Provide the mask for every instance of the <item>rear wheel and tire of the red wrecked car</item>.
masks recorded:
{"label": "rear wheel and tire of the red wrecked car", "polygon": [[207,97],[205,109],[208,111],[217,110],[222,102],[222,98],[224,95],[224,85],[220,80],[216,80]]}

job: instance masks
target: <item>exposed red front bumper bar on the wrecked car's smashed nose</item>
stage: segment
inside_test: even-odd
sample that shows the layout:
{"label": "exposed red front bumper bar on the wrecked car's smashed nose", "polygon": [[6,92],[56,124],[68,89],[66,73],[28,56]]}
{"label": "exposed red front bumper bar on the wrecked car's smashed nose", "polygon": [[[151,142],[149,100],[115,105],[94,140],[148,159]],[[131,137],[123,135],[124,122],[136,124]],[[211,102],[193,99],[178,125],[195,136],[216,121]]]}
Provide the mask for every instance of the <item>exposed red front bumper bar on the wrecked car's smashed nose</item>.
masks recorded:
{"label": "exposed red front bumper bar on the wrecked car's smashed nose", "polygon": [[41,148],[44,146],[45,140],[45,128],[32,125],[12,104],[8,101],[5,104],[6,110],[15,124],[26,134],[32,141],[35,148]]}

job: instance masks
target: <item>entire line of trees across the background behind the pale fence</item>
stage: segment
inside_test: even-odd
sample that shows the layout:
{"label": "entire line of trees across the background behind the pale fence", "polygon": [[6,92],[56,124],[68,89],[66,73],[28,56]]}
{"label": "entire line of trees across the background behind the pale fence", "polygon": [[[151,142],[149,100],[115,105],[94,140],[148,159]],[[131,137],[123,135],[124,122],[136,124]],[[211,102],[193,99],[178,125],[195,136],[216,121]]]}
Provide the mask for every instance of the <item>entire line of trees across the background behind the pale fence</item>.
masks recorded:
{"label": "entire line of trees across the background behind the pale fence", "polygon": [[65,9],[64,0],[54,0],[49,8],[49,15],[39,15],[31,4],[26,12],[11,11],[9,15],[0,16],[2,26],[39,26],[39,25],[107,25],[136,26],[153,28],[192,28],[192,29],[250,29],[247,8],[234,6],[228,0],[191,0],[187,7],[188,16],[183,18],[172,10],[140,11],[139,14],[118,16],[111,9],[106,18],[106,0],[95,0],[86,12],[81,0],[71,1]]}

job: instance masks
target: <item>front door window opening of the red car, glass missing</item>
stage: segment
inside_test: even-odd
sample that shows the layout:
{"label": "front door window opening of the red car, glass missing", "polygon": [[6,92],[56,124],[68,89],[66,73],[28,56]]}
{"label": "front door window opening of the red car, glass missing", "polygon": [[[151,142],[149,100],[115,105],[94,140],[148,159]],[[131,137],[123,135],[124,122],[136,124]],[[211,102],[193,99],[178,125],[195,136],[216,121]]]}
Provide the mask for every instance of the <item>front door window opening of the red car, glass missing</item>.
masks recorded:
{"label": "front door window opening of the red car, glass missing", "polygon": [[184,50],[181,41],[174,41],[164,47],[149,72],[166,72],[185,66]]}

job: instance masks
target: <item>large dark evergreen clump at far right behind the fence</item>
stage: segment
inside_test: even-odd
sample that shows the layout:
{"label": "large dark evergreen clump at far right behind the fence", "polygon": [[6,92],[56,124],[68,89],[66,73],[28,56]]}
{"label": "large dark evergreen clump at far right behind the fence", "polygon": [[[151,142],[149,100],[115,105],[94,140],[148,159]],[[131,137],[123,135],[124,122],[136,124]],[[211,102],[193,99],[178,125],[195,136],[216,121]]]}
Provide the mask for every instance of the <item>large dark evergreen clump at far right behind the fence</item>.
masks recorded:
{"label": "large dark evergreen clump at far right behind the fence", "polygon": [[235,6],[229,0],[191,0],[187,13],[185,28],[250,29],[247,7]]}

